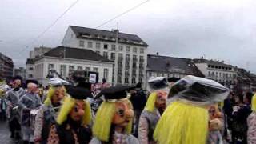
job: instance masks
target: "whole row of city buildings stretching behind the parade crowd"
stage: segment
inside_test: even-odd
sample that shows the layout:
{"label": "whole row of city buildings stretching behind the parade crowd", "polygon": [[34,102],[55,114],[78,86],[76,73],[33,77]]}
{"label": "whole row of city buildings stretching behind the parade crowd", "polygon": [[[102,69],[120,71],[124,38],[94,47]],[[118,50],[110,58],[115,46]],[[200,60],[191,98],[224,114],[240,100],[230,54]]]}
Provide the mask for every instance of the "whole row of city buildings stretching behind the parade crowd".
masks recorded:
{"label": "whole row of city buildings stretching behind the parade crowd", "polygon": [[[42,85],[46,76],[56,70],[69,78],[74,70],[90,70],[113,85],[135,85],[151,76],[183,78],[188,74],[213,79],[232,90],[254,90],[256,76],[246,70],[205,58],[174,58],[148,54],[148,44],[135,34],[118,30],[96,30],[69,26],[61,46],[38,47],[26,60],[26,78],[35,78]],[[22,70],[19,70],[22,71]]]}

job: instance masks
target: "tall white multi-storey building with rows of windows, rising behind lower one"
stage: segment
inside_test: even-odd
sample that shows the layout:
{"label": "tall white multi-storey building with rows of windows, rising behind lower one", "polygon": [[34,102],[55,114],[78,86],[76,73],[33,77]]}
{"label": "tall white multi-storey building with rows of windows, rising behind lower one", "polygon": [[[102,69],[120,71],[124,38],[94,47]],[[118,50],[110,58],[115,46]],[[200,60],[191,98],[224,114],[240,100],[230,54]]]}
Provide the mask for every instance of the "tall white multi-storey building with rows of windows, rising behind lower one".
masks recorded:
{"label": "tall white multi-storey building with rows of windows, rising behind lower one", "polygon": [[93,50],[114,61],[113,84],[134,85],[146,81],[147,44],[134,34],[69,26],[62,46]]}

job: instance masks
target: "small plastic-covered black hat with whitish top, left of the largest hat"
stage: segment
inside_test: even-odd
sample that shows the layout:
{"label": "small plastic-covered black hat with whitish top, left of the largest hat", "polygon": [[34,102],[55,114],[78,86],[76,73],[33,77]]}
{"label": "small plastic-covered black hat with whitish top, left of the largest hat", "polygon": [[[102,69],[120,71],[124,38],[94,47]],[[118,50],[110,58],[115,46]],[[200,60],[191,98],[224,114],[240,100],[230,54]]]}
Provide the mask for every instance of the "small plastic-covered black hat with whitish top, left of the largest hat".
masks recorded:
{"label": "small plastic-covered black hat with whitish top, left of the largest hat", "polygon": [[163,77],[150,78],[148,83],[149,83],[150,89],[153,89],[153,90],[159,90],[169,86],[166,78],[163,78]]}

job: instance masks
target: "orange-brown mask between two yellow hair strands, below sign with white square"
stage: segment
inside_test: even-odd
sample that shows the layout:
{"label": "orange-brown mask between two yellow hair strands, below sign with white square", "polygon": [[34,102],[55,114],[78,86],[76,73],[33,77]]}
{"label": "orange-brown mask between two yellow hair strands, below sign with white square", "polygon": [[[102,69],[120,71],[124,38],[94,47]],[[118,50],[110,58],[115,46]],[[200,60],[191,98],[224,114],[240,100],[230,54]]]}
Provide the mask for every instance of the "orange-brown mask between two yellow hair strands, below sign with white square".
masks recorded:
{"label": "orange-brown mask between two yellow hair strands, below sign with white square", "polygon": [[70,112],[70,117],[75,121],[81,121],[83,115],[85,114],[85,106],[86,103],[83,100],[77,100],[74,104],[74,107],[72,108]]}

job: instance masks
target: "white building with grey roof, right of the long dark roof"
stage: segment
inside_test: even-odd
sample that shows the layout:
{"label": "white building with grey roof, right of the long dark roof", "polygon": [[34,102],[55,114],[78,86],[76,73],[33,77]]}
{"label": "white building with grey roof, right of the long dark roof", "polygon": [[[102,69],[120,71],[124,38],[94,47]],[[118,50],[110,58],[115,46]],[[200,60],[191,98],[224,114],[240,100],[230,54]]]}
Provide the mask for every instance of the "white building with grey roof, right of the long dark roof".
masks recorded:
{"label": "white building with grey roof, right of the long dark roof", "polygon": [[233,66],[227,65],[224,62],[203,58],[194,59],[193,61],[206,78],[220,82],[224,86],[232,87],[237,84],[237,72],[234,70]]}

